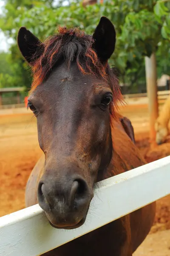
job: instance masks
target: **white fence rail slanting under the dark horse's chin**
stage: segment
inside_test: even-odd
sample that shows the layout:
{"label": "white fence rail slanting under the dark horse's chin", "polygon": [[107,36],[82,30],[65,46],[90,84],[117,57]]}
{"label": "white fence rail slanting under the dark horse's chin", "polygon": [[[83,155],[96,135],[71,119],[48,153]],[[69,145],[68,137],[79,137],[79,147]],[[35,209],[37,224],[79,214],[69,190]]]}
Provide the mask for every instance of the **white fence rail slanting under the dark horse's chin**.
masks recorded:
{"label": "white fence rail slanting under the dark horse's chin", "polygon": [[0,256],[38,256],[168,194],[170,156],[100,182],[76,230],[51,227],[38,205],[1,217]]}

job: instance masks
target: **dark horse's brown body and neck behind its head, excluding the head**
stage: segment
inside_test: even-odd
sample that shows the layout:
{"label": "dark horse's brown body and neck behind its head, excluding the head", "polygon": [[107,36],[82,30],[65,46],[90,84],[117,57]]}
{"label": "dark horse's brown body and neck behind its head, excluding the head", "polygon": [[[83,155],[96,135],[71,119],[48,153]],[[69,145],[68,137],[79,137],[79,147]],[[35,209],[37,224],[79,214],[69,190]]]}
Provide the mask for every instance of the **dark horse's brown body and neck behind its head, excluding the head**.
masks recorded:
{"label": "dark horse's brown body and neck behind its head, excluding the head", "polygon": [[[138,148],[126,134],[121,122],[113,124],[112,134],[114,136],[112,137],[111,166],[102,174],[102,177],[98,177],[99,180],[146,163]],[[43,173],[43,166],[44,156],[37,162],[29,177],[26,187],[26,207],[37,204],[37,183]],[[155,208],[155,203],[150,204],[43,255],[67,256],[69,252],[69,255],[74,256],[132,256],[150,231]]]}

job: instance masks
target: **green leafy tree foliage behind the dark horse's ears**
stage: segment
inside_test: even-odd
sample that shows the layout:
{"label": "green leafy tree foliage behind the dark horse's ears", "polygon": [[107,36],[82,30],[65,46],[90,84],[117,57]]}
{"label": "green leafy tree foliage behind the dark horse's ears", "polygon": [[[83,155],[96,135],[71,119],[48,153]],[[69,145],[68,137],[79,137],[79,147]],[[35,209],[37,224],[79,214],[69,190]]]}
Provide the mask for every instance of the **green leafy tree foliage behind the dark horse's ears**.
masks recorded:
{"label": "green leafy tree foliage behind the dark horse's ears", "polygon": [[[54,6],[53,0],[5,0],[0,28],[16,42],[20,26],[26,26],[41,40],[52,35],[57,25],[79,26],[92,34],[102,15],[114,24],[117,34],[116,50],[109,61],[118,69],[122,82],[132,86],[144,78],[144,56],[157,52],[159,74],[170,72],[170,57],[164,64],[164,49],[170,49],[170,1],[113,0],[104,4],[83,7],[72,2],[70,6]],[[13,62],[12,62],[13,60]],[[27,87],[30,74],[15,43],[11,47],[11,63],[17,63],[15,76],[20,76]],[[161,63],[161,64],[160,64]],[[166,68],[165,68],[166,66]],[[20,68],[19,68],[20,67]]]}

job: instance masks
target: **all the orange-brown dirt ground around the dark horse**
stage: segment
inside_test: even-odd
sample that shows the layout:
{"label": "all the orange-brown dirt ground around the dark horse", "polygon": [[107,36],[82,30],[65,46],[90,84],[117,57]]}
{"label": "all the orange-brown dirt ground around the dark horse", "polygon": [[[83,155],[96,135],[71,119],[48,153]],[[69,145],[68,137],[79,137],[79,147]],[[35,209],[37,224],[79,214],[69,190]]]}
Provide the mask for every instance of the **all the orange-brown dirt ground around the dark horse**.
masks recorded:
{"label": "all the orange-brown dirt ground around the dark horse", "polygon": [[[170,155],[168,141],[150,149],[147,108],[125,107],[121,109],[121,113],[130,118],[135,130],[136,145],[147,162]],[[32,118],[32,114],[1,115],[0,113],[0,216],[25,207],[26,182],[41,154],[37,140],[36,119]],[[154,234],[148,236],[149,240],[144,241],[134,256],[170,256],[168,229],[170,229],[170,196],[157,201],[155,223],[150,232]],[[165,239],[164,232],[167,232]],[[156,249],[158,244],[159,250]],[[163,244],[162,248],[161,244]],[[147,247],[150,249],[147,250]]]}

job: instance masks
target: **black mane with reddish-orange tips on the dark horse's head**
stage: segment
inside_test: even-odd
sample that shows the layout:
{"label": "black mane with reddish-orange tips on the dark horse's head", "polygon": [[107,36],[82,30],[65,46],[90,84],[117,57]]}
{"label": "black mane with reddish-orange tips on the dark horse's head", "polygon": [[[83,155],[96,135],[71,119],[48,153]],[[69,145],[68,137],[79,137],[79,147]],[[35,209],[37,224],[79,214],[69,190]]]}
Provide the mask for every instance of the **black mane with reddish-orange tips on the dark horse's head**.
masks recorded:
{"label": "black mane with reddish-orange tips on the dark horse's head", "polygon": [[32,66],[33,82],[30,92],[40,85],[48,77],[53,67],[56,67],[61,61],[64,60],[69,68],[71,62],[76,60],[77,67],[82,74],[101,76],[111,85],[113,91],[111,114],[115,117],[118,103],[123,102],[119,82],[109,65],[103,65],[99,61],[96,51],[92,47],[93,43],[92,36],[85,34],[82,30],[59,26],[55,35],[48,37],[39,45],[43,49],[42,54],[39,56],[40,51],[37,50],[33,56],[36,60]]}

